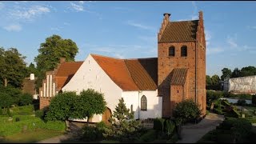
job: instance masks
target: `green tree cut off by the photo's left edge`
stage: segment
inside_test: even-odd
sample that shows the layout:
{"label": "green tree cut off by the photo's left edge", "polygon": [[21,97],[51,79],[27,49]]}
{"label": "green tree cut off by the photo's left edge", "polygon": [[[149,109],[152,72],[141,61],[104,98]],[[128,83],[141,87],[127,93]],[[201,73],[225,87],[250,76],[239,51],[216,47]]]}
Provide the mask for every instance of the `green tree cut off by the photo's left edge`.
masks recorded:
{"label": "green tree cut off by the photo's left edge", "polygon": [[0,48],[0,78],[4,86],[10,84],[21,87],[26,75],[26,57],[18,53],[16,48],[4,50]]}

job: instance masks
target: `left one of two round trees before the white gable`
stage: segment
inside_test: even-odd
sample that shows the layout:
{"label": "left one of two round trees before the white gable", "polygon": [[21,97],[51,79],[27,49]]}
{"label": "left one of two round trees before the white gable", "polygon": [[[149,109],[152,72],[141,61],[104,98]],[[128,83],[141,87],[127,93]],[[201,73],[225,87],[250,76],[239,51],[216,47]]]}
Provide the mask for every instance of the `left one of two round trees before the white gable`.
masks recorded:
{"label": "left one of two round trees before the white gable", "polygon": [[74,113],[77,94],[75,92],[58,93],[50,101],[49,110],[46,113],[46,120],[49,121],[66,121]]}

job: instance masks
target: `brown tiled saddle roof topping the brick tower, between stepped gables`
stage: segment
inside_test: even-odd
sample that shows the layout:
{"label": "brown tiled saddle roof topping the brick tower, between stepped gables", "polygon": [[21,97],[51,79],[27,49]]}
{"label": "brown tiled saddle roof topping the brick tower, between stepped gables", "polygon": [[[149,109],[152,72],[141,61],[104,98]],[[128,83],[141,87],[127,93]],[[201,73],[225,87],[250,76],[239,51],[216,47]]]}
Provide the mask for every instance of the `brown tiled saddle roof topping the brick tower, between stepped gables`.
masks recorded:
{"label": "brown tiled saddle roof topping the brick tower, between stepped gables", "polygon": [[168,22],[159,42],[190,42],[196,40],[198,20]]}

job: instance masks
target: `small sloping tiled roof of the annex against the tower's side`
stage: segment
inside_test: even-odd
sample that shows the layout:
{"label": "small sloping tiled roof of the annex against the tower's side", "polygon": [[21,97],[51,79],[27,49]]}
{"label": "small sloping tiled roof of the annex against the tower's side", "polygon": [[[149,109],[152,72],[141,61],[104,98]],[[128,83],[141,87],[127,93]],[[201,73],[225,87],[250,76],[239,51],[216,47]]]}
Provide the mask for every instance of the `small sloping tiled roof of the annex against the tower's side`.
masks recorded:
{"label": "small sloping tiled roof of the annex against the tower's side", "polygon": [[175,68],[172,71],[171,85],[184,85],[186,82],[187,68]]}

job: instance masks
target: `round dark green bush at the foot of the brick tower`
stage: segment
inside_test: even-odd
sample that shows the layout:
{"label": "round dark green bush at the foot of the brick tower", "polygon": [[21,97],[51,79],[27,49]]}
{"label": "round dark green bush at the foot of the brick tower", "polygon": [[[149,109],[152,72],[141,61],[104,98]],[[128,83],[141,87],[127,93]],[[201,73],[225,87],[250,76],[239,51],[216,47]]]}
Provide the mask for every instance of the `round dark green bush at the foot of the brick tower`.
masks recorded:
{"label": "round dark green bush at the foot of the brick tower", "polygon": [[186,99],[179,102],[174,108],[174,118],[181,118],[182,122],[187,122],[191,119],[198,118],[201,114],[202,110],[199,109],[198,104],[192,99]]}

